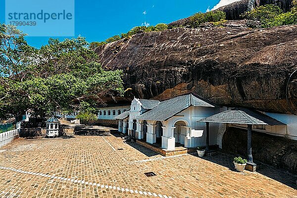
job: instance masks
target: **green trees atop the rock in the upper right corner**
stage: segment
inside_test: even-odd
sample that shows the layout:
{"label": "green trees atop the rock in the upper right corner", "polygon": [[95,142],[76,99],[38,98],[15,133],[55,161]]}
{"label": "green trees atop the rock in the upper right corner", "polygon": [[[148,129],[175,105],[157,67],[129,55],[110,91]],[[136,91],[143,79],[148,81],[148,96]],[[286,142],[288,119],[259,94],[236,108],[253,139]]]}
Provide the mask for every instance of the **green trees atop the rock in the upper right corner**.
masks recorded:
{"label": "green trees atop the rock in the upper right corner", "polygon": [[293,1],[291,11],[283,13],[280,7],[272,4],[262,5],[246,12],[242,17],[259,21],[262,28],[297,24],[297,0]]}

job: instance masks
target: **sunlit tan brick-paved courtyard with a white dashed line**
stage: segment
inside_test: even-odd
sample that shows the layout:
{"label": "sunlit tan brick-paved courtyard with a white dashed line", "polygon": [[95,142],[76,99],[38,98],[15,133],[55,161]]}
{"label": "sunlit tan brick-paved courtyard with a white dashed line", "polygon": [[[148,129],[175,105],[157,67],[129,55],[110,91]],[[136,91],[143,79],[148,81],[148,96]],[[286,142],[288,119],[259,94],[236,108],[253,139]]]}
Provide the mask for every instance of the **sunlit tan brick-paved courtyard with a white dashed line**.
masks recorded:
{"label": "sunlit tan brick-paved courtyard with a white dashed line", "polygon": [[[156,176],[144,175],[150,171]],[[270,166],[236,172],[226,154],[163,157],[114,136],[18,139],[0,148],[0,198],[297,198],[296,179]]]}

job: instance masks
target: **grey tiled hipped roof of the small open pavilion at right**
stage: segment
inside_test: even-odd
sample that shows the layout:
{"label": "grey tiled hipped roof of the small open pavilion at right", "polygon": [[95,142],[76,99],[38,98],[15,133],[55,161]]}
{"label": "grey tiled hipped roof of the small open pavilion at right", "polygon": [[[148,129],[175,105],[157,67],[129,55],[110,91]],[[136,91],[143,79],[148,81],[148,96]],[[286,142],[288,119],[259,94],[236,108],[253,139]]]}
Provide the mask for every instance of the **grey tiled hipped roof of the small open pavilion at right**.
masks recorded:
{"label": "grey tiled hipped roof of the small open pavilion at right", "polygon": [[199,120],[198,122],[215,122],[230,124],[251,125],[286,125],[268,115],[246,108],[233,108],[213,116]]}

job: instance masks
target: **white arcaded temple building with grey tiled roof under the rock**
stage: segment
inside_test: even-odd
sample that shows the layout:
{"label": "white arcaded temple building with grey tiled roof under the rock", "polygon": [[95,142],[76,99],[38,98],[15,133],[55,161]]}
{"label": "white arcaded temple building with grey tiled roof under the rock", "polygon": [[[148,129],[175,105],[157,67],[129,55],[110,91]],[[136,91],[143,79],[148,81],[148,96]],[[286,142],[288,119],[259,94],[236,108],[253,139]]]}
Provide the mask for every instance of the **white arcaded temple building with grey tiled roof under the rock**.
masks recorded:
{"label": "white arcaded temple building with grey tiled roof under the rock", "polygon": [[[161,148],[174,150],[176,144],[186,148],[205,145],[205,123],[197,120],[214,115],[220,108],[188,94],[164,101],[134,99],[129,111],[116,116],[118,130],[124,134],[160,143]],[[210,144],[216,145],[219,124],[210,124]]]}

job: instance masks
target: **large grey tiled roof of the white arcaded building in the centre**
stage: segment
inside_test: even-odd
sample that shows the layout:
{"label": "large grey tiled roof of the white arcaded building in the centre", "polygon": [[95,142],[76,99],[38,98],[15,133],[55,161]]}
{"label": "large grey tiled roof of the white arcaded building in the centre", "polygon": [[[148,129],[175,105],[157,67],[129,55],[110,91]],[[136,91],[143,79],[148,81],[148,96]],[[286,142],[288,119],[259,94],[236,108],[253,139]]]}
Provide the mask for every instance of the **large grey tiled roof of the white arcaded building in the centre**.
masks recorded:
{"label": "large grey tiled roof of the white arcaded building in the centre", "polygon": [[214,107],[212,104],[198,99],[192,94],[188,94],[161,101],[156,107],[149,110],[148,112],[136,116],[135,119],[164,121],[189,108],[190,106]]}

